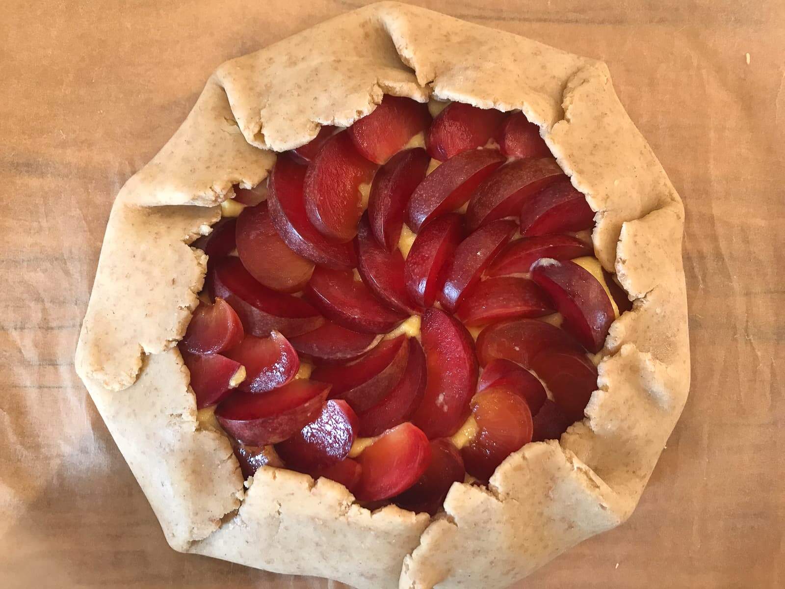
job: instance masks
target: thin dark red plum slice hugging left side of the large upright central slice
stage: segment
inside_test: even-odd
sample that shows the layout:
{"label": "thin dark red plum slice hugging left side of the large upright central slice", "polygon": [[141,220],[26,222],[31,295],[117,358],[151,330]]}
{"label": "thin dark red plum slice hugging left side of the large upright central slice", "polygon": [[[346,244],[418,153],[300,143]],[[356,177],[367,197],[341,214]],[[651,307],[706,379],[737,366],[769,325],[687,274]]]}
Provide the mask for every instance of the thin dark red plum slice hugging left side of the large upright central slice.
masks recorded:
{"label": "thin dark red plum slice hugging left side of the large upright central slice", "polygon": [[387,397],[358,415],[360,436],[374,437],[407,421],[419,407],[425,393],[425,353],[416,338],[409,338],[409,357],[403,376]]}

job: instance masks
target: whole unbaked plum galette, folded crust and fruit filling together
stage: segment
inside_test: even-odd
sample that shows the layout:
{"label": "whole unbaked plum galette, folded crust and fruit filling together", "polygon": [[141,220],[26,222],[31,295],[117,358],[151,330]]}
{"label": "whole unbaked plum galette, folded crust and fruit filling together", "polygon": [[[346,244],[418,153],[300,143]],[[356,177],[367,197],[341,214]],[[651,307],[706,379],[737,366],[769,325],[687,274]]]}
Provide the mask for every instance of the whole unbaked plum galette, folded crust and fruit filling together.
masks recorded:
{"label": "whole unbaked plum galette, folded crust and fruit filling together", "polygon": [[77,369],[178,551],[502,587],[637,504],[682,230],[604,64],[384,2],[218,68],[115,201]]}

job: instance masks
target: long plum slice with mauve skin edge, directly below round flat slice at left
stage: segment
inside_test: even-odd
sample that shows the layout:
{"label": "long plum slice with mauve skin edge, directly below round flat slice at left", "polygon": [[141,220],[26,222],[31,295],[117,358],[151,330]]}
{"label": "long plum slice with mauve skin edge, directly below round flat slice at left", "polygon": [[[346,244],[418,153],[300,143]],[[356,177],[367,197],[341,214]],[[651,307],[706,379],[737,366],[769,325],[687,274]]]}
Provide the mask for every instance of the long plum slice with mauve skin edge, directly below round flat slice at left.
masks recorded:
{"label": "long plum slice with mauve skin edge, directly below round flat slice at left", "polygon": [[303,298],[262,286],[239,258],[219,262],[212,273],[215,296],[224,298],[243,322],[246,333],[267,337],[277,330],[290,337],[312,331],[324,318]]}

